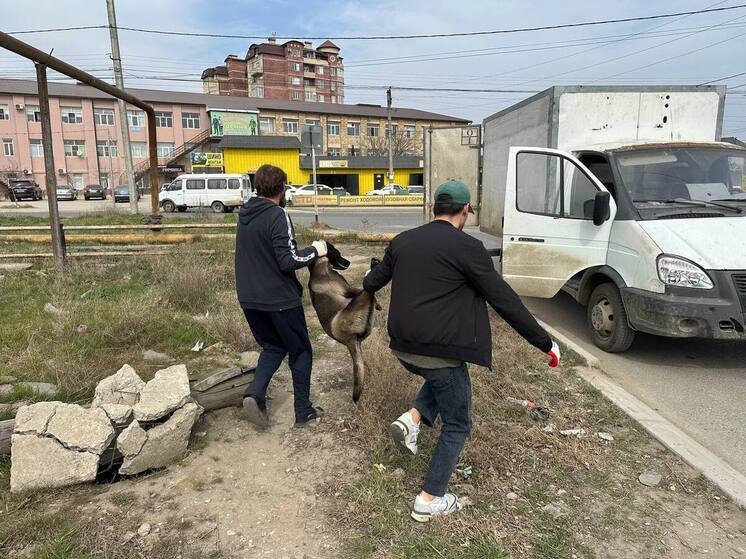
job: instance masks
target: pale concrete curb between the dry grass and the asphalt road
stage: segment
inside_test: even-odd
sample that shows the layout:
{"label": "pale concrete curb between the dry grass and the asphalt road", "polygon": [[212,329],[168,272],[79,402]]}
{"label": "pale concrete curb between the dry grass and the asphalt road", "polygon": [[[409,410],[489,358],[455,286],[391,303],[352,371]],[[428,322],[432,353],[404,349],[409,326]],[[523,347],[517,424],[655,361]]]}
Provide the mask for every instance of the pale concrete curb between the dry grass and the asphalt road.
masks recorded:
{"label": "pale concrete curb between the dry grass and the asphalt road", "polygon": [[556,328],[539,322],[547,332],[580,355],[586,362],[585,367],[576,368],[581,378],[637,421],[663,446],[717,485],[739,507],[746,509],[746,476],[702,446],[653,408],[616,384],[603,371],[598,358],[589,351],[580,347]]}

